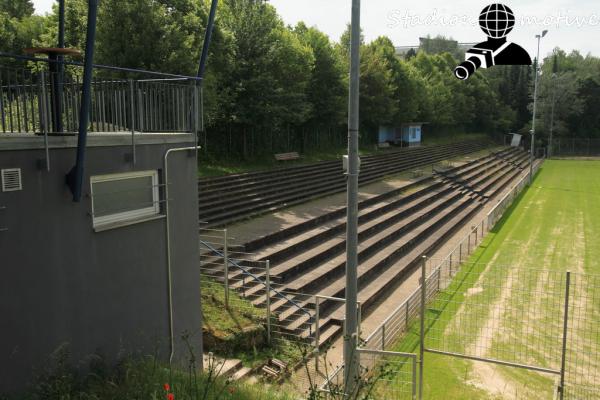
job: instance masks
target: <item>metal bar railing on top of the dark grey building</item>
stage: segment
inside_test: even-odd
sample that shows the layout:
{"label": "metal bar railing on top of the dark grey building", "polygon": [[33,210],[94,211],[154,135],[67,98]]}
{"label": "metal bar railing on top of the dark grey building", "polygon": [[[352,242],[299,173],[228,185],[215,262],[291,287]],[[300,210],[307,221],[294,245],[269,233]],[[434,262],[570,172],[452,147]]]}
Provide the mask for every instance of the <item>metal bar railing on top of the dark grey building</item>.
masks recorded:
{"label": "metal bar railing on top of the dark grey building", "polygon": [[[91,132],[192,132],[200,87],[185,79],[92,81]],[[81,79],[0,66],[0,133],[63,134],[79,129]]]}

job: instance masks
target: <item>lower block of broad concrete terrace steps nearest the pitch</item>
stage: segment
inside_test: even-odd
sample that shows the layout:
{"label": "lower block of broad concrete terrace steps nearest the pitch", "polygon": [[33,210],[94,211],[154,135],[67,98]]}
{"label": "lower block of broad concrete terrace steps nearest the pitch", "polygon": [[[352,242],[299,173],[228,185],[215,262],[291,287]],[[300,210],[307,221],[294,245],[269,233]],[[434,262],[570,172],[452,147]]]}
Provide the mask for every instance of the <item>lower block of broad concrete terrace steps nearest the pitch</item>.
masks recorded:
{"label": "lower block of broad concrete terrace steps nearest the pitch", "polygon": [[[477,198],[460,185],[452,188],[429,178],[419,184],[417,192],[402,195],[403,188],[400,188],[391,191],[393,194],[361,202],[359,299],[364,304],[363,311],[367,312],[389,289],[401,283],[415,268],[422,254],[442,245],[450,234],[472,218],[488,198],[494,198],[522,173],[519,166],[526,161],[525,153],[508,148],[498,154],[505,159],[491,154],[447,170],[477,190],[480,194]],[[416,184],[411,186],[415,187]],[[261,258],[279,257],[283,260],[272,263],[273,274],[277,268],[282,272],[273,275],[274,281],[276,277],[280,278],[276,287],[302,307],[298,308],[287,298],[272,298],[272,310],[284,331],[308,338],[314,330],[314,296],[295,295],[298,291],[343,297],[344,224],[345,209],[340,208],[246,244],[246,251],[252,246],[260,249]],[[330,250],[332,248],[336,248],[335,251]],[[260,273],[257,271],[257,274]],[[252,302],[264,307],[264,285],[256,282],[250,289],[255,294]],[[331,339],[340,333],[342,310],[343,307],[334,301],[321,302],[321,341],[325,336]]]}

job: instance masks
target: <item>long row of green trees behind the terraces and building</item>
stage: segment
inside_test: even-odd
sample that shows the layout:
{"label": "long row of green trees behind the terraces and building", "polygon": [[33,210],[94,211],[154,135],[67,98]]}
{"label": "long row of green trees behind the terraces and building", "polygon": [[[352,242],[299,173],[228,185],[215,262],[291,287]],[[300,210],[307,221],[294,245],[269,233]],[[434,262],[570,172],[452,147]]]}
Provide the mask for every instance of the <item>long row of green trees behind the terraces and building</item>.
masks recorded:
{"label": "long row of green trees behind the terraces and building", "polygon": [[[103,0],[96,62],[195,75],[209,0]],[[55,46],[58,9],[33,15],[31,1],[0,0],[0,50]],[[86,0],[66,2],[66,45],[84,50]],[[349,28],[332,41],[304,23],[286,26],[266,0],[222,0],[204,79],[206,144],[246,157],[341,145],[346,137]],[[428,122],[430,132],[527,131],[533,69],[497,66],[459,81],[458,43],[422,39],[398,57],[387,37],[361,36],[362,143],[380,126]],[[555,93],[555,95],[553,95]],[[559,93],[559,95],[556,95]],[[558,135],[600,136],[600,62],[556,49],[544,60],[539,126]]]}

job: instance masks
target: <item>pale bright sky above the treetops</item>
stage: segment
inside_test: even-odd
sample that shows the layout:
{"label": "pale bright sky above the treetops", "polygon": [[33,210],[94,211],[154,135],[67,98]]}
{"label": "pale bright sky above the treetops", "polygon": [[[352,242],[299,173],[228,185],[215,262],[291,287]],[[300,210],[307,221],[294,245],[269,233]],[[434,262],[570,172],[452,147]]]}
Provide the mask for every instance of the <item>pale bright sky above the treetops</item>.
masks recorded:
{"label": "pale bright sky above the treetops", "polygon": [[[69,0],[66,0],[69,1]],[[36,12],[50,11],[53,0],[34,0]],[[305,21],[338,39],[350,19],[351,0],[270,0],[283,20],[294,25]],[[442,34],[460,42],[485,40],[473,21],[490,1],[467,0],[363,0],[362,27],[367,40],[389,36],[398,46],[416,45],[420,36]],[[531,54],[536,33],[550,32],[542,42],[542,54],[556,46],[567,51],[579,49],[600,56],[600,1],[523,0],[507,1],[517,17],[517,26],[508,36]]]}

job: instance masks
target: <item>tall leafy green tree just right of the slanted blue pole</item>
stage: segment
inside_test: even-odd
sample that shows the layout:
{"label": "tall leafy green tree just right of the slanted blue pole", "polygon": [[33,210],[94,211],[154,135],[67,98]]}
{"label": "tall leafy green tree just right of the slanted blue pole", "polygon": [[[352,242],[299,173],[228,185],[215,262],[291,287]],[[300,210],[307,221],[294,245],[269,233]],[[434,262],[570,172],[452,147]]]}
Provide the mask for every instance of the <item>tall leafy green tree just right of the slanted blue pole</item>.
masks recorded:
{"label": "tall leafy green tree just right of the slanted blue pole", "polygon": [[269,147],[267,129],[287,129],[309,118],[306,90],[314,57],[266,2],[222,4],[220,26],[230,36],[235,60],[221,75],[219,91],[228,94],[228,104],[223,104],[226,123],[241,135],[241,153],[247,157]]}

